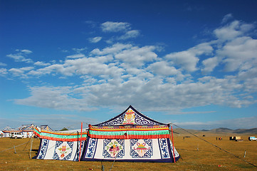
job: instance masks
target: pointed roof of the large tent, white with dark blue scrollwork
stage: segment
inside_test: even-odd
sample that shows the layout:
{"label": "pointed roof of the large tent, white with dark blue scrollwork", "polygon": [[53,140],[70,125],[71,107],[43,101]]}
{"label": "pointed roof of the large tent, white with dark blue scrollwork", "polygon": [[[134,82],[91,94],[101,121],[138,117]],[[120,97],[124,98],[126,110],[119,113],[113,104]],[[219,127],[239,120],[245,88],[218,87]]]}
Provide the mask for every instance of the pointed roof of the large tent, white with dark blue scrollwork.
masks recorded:
{"label": "pointed roof of the large tent, white with dark blue scrollwork", "polygon": [[114,118],[107,120],[103,123],[99,123],[93,126],[112,126],[112,125],[166,125],[164,123],[159,123],[146,115],[135,110],[135,108],[130,105],[124,112]]}

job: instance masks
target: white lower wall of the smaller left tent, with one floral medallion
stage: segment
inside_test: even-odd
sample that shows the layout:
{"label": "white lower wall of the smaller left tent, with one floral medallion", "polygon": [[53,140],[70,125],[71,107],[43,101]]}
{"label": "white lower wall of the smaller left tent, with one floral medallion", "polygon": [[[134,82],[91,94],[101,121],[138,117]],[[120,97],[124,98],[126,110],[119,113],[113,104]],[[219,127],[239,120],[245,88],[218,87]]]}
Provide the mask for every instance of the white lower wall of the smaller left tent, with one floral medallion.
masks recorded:
{"label": "white lower wall of the smaller left tent, with one floral medallion", "polygon": [[84,144],[85,140],[81,143],[80,152],[80,141],[68,142],[41,139],[36,159],[78,161],[78,155],[79,153],[80,155],[82,154]]}

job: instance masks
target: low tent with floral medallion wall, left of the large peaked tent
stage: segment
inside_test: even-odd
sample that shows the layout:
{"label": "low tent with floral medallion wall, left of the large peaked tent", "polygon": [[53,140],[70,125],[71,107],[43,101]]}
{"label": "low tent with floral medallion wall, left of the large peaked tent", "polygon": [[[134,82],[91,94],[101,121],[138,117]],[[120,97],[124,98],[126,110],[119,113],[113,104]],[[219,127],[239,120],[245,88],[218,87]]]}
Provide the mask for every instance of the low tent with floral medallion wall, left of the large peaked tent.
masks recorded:
{"label": "low tent with floral medallion wall, left of the large peaked tent", "polygon": [[[80,130],[53,132],[34,128],[34,134],[40,138],[36,159],[78,161],[85,145],[88,131]],[[81,150],[80,150],[81,149]]]}

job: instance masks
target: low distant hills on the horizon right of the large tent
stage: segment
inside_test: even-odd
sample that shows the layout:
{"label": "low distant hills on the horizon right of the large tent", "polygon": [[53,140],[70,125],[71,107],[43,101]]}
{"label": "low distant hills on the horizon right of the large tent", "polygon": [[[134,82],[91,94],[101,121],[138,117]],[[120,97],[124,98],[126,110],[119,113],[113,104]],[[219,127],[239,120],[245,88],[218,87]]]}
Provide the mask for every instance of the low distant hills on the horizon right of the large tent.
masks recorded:
{"label": "low distant hills on the horizon right of the large tent", "polygon": [[[257,134],[257,128],[251,128],[251,129],[237,129],[237,130],[231,130],[229,128],[216,128],[212,130],[187,130],[189,133],[231,133],[231,134]],[[187,133],[186,131],[177,128],[174,129],[174,132],[179,134]]]}

